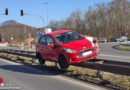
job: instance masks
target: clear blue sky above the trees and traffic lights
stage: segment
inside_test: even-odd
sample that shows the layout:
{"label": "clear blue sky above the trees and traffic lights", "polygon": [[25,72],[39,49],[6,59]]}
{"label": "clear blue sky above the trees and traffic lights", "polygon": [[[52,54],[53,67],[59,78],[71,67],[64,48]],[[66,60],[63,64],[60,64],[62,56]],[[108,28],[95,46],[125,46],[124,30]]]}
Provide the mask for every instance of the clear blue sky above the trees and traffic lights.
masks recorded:
{"label": "clear blue sky above the trees and traffic lights", "polygon": [[[108,3],[113,0],[0,0],[0,14],[5,13],[5,8],[8,8],[9,15],[0,15],[0,23],[6,20],[16,20],[19,23],[27,24],[33,27],[47,26],[47,5],[48,2],[48,20],[64,20],[73,11],[88,10],[88,7],[95,7],[96,4]],[[20,10],[24,13],[32,15],[20,16]],[[44,19],[43,20],[39,16]]]}

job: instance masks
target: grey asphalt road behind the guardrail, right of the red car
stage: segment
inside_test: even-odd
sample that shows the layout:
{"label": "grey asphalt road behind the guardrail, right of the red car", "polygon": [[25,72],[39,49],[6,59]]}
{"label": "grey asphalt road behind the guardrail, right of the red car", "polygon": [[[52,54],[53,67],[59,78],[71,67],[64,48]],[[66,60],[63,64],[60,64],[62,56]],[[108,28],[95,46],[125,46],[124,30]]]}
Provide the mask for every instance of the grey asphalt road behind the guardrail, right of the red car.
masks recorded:
{"label": "grey asphalt road behind the guardrail, right of the red car", "polygon": [[114,46],[119,43],[100,43],[100,53],[97,58],[113,61],[130,62],[130,51],[117,50]]}

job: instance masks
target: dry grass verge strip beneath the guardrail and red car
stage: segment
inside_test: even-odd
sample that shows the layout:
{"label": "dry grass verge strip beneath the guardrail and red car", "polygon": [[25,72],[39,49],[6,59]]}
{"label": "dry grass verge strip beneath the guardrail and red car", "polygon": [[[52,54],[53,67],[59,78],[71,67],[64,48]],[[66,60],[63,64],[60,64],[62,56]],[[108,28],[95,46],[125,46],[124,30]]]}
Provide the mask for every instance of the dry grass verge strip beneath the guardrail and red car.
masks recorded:
{"label": "dry grass verge strip beneath the guardrail and red car", "polygon": [[55,64],[53,62],[46,62],[45,65],[40,66],[37,59],[34,61],[31,58],[5,53],[0,53],[0,57],[11,60],[13,62],[24,63],[25,65],[30,65],[40,70],[55,73],[56,75],[62,74],[65,76],[82,80],[84,82],[90,82],[93,84],[101,85],[110,89],[130,90],[130,76],[102,72],[102,77],[97,77],[97,72],[93,69],[70,66],[68,70],[62,71],[59,69],[59,66],[55,67]]}

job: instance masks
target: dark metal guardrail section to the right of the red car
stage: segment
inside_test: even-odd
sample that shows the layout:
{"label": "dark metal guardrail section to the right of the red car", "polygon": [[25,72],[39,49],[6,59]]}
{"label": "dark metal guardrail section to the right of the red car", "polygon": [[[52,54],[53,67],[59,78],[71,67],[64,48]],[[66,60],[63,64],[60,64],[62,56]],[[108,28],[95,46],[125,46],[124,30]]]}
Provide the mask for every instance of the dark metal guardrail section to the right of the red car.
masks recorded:
{"label": "dark metal guardrail section to the right of the red car", "polygon": [[125,66],[125,65],[96,63],[96,62],[86,61],[86,62],[74,64],[74,66],[95,69],[98,72],[97,76],[100,76],[100,71],[130,76],[130,65]]}

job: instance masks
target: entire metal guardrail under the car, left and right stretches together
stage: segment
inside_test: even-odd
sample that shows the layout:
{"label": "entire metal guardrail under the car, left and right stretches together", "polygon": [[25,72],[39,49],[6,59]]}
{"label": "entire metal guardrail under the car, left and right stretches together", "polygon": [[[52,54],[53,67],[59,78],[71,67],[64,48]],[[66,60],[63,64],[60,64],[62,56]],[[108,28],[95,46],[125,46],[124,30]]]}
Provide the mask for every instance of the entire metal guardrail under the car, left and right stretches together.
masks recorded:
{"label": "entire metal guardrail under the car, left and right stretches together", "polygon": [[[36,59],[35,52],[30,51],[4,49],[0,50],[0,52]],[[130,63],[128,62],[95,59],[72,65],[77,67],[95,69],[97,70],[97,76],[101,76],[100,71],[130,76]]]}

